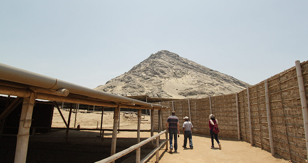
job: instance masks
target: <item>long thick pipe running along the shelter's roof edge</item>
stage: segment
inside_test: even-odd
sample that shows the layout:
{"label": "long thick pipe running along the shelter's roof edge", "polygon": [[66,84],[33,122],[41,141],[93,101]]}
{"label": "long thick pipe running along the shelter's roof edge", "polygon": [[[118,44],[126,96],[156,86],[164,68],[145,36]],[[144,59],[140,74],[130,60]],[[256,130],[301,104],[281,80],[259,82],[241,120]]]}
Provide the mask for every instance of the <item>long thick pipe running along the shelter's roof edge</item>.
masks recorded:
{"label": "long thick pipe running along the shelter's roof edge", "polygon": [[[135,100],[128,97],[122,97],[111,93],[97,91],[73,83],[65,82],[56,78],[51,78],[45,75],[37,74],[27,70],[22,70],[16,67],[12,67],[3,63],[0,63],[0,79],[22,83],[26,85],[33,85],[47,89],[68,89],[70,93],[84,95],[87,97],[98,98],[111,101],[122,101],[127,103],[135,103],[136,105],[143,105],[149,107],[161,108],[161,105],[151,104],[144,101]],[[163,106],[164,108],[168,108]]]}

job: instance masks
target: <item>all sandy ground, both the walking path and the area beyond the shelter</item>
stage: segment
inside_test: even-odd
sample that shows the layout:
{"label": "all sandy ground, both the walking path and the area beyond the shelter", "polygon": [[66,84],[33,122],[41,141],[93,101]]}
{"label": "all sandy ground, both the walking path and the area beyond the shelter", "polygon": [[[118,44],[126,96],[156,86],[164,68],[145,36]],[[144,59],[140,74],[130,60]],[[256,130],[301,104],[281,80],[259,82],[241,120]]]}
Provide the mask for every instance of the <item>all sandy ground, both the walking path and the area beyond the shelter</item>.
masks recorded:
{"label": "all sandy ground, both the walking path and the area beyond the shelter", "polygon": [[[66,121],[68,118],[67,111],[62,111],[63,116]],[[101,114],[99,113],[77,113],[77,121],[76,126],[80,124],[81,128],[96,128],[97,122],[100,127],[100,119]],[[145,117],[145,119],[149,120],[149,117]],[[75,114],[72,114],[71,117],[71,126],[74,126]],[[111,129],[113,124],[113,113],[104,113],[103,115],[103,128]],[[52,121],[52,127],[64,127],[65,124],[60,117],[58,110],[54,110],[54,117]],[[121,113],[120,118],[120,129],[137,129],[137,121],[133,121],[131,119],[123,117]],[[141,124],[141,129],[150,129],[149,123]],[[80,137],[96,137],[99,135],[97,131],[91,132],[80,132],[80,131],[70,131],[70,133],[74,133],[74,135],[78,135]],[[52,133],[54,135],[63,135],[65,131],[58,131]],[[112,137],[112,132],[105,132],[105,137]],[[117,137],[137,137],[136,132],[120,132]],[[140,133],[140,137],[150,137],[150,133],[142,132]],[[164,135],[162,139],[164,139]],[[193,133],[193,146],[194,149],[184,149],[183,145],[183,134],[180,134],[178,138],[178,149],[177,152],[168,153],[163,149],[159,151],[159,162],[289,162],[288,160],[282,159],[281,156],[275,155],[271,156],[270,152],[265,150],[261,150],[258,147],[250,146],[250,143],[244,141],[237,141],[236,139],[230,138],[218,138],[221,142],[222,149],[217,148],[218,145],[215,142],[216,148],[211,148],[211,138],[209,135],[203,134],[195,134]],[[215,140],[214,140],[215,141]],[[169,145],[168,145],[169,146]],[[189,145],[187,145],[189,146]],[[134,162],[135,158],[130,158],[129,162]],[[142,158],[141,158],[142,159]],[[155,154],[148,162],[155,162],[156,157]],[[123,161],[128,162],[128,160]]]}

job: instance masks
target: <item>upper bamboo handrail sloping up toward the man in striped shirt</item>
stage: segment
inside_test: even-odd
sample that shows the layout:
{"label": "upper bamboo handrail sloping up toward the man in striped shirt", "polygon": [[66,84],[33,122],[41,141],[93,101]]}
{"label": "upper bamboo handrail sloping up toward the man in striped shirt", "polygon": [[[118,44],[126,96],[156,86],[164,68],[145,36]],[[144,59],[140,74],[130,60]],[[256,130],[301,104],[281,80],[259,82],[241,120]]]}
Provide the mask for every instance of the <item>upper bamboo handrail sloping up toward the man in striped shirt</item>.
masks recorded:
{"label": "upper bamboo handrail sloping up toward the man in striped shirt", "polygon": [[148,142],[150,142],[150,141],[156,139],[156,138],[159,137],[160,135],[162,135],[162,134],[164,134],[164,133],[167,133],[167,132],[168,132],[168,130],[166,129],[166,130],[160,132],[159,134],[156,134],[156,135],[154,135],[154,136],[152,136],[152,137],[149,137],[148,139],[146,139],[146,140],[144,140],[144,141],[141,141],[140,143],[135,144],[135,145],[129,147],[128,149],[125,149],[125,150],[123,150],[123,151],[121,151],[121,152],[115,153],[114,155],[112,155],[112,156],[110,156],[110,157],[107,157],[107,158],[105,158],[105,159],[103,159],[103,160],[97,161],[97,162],[95,162],[95,163],[109,163],[109,162],[115,161],[116,159],[118,159],[118,158],[120,158],[120,157],[122,157],[122,156],[124,156],[124,155],[126,155],[126,154],[128,154],[128,153],[130,153],[130,152],[132,152],[133,150],[135,150],[135,149],[137,149],[137,148],[139,148],[139,147],[141,147],[141,146],[147,144]]}

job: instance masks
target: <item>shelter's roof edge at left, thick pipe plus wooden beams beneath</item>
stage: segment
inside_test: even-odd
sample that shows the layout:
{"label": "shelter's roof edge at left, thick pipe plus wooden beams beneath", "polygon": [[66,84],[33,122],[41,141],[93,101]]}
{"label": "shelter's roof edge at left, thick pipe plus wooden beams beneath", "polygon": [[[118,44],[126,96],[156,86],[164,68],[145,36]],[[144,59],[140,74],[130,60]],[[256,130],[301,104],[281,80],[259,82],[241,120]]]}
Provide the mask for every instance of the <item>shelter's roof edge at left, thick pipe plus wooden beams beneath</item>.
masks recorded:
{"label": "shelter's roof edge at left, thick pipe plus wooden beams beneath", "polygon": [[96,106],[132,109],[168,109],[167,106],[151,104],[86,88],[56,78],[22,70],[0,63],[0,93],[18,97],[35,97],[42,100],[63,101]]}

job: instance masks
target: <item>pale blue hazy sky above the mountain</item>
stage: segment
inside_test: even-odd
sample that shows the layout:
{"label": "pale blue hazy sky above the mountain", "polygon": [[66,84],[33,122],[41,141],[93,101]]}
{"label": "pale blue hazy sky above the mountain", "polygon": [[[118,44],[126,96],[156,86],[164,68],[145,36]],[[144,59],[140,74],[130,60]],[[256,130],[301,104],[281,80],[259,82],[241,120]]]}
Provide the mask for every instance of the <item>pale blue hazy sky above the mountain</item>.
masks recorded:
{"label": "pale blue hazy sky above the mountain", "polygon": [[95,88],[168,50],[251,85],[308,60],[307,0],[0,0],[0,63]]}

